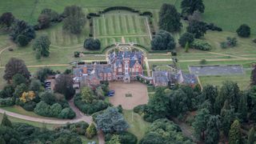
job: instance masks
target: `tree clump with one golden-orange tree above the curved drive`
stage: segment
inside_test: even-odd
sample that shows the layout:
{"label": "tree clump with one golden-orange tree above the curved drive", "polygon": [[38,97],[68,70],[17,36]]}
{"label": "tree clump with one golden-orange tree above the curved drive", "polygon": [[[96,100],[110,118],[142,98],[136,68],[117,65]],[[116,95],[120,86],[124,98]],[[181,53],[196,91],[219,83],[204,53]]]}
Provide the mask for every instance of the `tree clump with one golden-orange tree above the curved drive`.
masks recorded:
{"label": "tree clump with one golden-orange tree above the curved drive", "polygon": [[74,96],[73,81],[69,74],[60,74],[56,78],[55,94],[42,86],[49,74],[57,74],[49,68],[38,70],[30,79],[25,63],[11,58],[6,64],[4,78],[8,82],[0,92],[1,106],[22,106],[36,114],[55,118],[74,118],[67,100]]}

